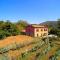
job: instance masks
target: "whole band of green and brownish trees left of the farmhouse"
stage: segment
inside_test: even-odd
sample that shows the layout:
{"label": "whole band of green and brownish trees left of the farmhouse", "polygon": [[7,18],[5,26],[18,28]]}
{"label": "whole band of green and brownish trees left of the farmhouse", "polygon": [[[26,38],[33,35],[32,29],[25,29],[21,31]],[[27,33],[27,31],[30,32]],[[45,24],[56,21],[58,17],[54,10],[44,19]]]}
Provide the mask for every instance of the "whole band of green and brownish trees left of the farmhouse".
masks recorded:
{"label": "whole band of green and brownish trees left of the farmhouse", "polygon": [[18,21],[17,23],[12,23],[9,20],[0,21],[0,39],[8,36],[15,36],[22,34],[22,30],[28,25],[26,21]]}

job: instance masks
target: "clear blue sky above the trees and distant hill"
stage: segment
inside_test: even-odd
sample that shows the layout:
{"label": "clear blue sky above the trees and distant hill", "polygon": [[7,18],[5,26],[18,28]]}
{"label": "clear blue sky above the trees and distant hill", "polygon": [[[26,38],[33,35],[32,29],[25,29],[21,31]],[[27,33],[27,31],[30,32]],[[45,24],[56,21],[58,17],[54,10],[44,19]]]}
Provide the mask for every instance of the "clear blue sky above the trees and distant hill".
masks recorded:
{"label": "clear blue sky above the trees and distant hill", "polygon": [[60,0],[0,0],[0,20],[26,20],[29,23],[56,21]]}

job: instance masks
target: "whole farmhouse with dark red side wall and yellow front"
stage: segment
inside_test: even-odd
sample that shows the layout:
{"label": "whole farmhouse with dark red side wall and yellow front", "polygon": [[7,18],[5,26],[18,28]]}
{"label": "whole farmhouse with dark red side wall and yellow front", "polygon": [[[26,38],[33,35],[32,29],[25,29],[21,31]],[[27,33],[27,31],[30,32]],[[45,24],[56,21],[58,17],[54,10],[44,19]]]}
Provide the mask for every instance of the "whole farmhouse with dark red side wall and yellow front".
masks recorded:
{"label": "whole farmhouse with dark red side wall and yellow front", "polygon": [[44,25],[32,24],[26,27],[26,35],[33,37],[48,36],[48,27]]}

